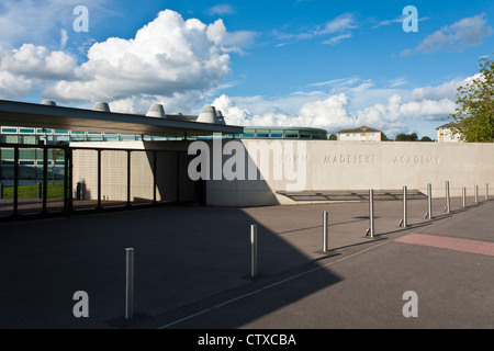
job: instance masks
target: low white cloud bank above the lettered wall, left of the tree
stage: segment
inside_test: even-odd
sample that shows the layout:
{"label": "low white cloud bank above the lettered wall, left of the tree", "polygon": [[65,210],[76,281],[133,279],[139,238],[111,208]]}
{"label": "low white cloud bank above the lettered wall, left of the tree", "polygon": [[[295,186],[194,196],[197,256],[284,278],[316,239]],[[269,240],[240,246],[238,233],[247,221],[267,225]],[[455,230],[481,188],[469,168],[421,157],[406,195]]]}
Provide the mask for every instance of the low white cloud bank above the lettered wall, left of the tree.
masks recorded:
{"label": "low white cloud bank above the lettered wall, left of the tree", "polygon": [[[327,91],[297,91],[276,99],[223,94],[212,104],[232,125],[305,126],[329,133],[368,125],[380,128],[388,136],[418,132],[434,137],[424,125],[437,126],[441,118],[454,112],[456,89],[468,80],[398,90],[377,88],[370,80],[349,77],[310,84]],[[396,86],[406,83],[404,78],[394,82]],[[382,102],[378,102],[380,100]]]}

